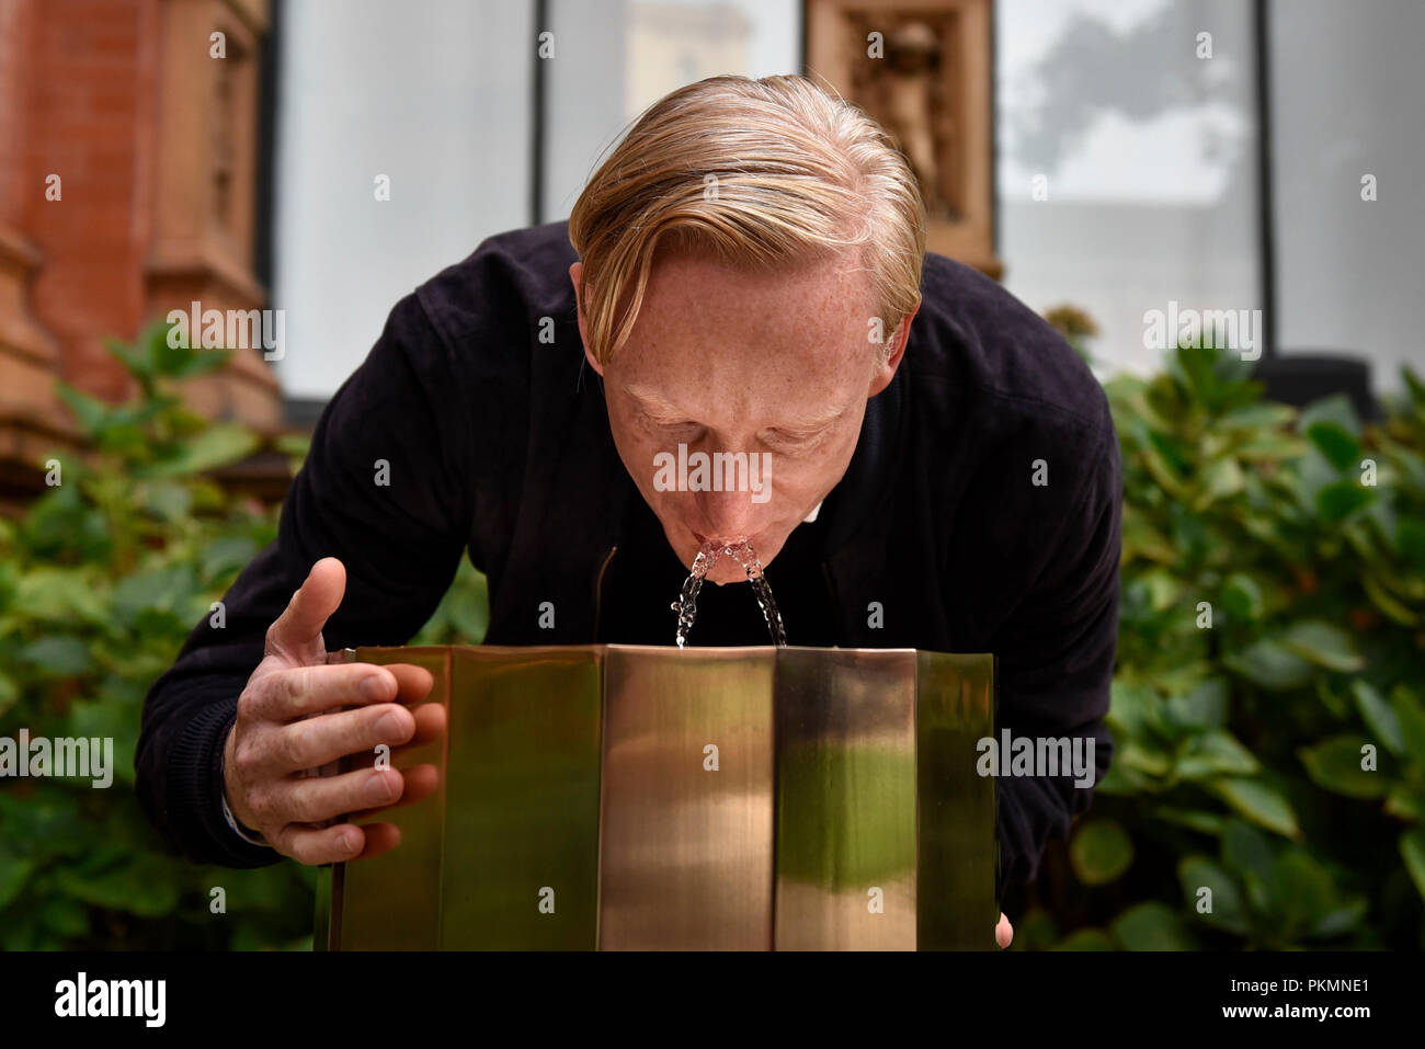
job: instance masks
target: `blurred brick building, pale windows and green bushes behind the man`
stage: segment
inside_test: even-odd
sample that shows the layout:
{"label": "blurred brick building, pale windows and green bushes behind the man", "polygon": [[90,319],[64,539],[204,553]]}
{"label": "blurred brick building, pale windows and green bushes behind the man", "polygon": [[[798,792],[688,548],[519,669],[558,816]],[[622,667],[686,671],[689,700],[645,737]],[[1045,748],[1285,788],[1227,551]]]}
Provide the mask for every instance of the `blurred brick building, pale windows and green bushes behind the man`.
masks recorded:
{"label": "blurred brick building, pale windows and green bushes behind the man", "polygon": [[[311,871],[155,839],[147,687],[399,298],[566,218],[673,88],[807,73],[1120,429],[1119,750],[1015,949],[1419,949],[1422,38],[1415,0],[0,0],[0,735],[120,765],[0,781],[0,946],[311,945]],[[171,349],[195,301],[279,345]],[[466,563],[415,640],[483,629]]]}

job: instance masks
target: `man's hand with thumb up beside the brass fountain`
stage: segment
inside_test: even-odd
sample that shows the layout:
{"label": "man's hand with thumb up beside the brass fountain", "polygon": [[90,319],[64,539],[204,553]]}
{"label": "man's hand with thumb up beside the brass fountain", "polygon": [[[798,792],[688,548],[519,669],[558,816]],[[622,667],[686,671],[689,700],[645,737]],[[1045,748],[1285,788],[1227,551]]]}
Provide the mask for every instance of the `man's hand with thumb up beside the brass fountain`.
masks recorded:
{"label": "man's hand with thumb up beside the brass fountain", "polygon": [[[282,855],[331,864],[380,855],[400,844],[395,824],[366,827],[326,821],[370,815],[420,801],[436,788],[435,765],[359,768],[333,777],[308,770],[348,754],[375,758],[392,748],[428,743],[445,731],[437,703],[415,711],[435,678],[409,664],[336,663],[322,627],[346,591],[346,569],[335,557],[312,566],[286,610],[266,633],[266,651],[238,697],[238,718],[224,747],[224,788],[232,814],[262,832]],[[343,706],[358,706],[342,711]],[[375,761],[372,761],[375,765]]]}

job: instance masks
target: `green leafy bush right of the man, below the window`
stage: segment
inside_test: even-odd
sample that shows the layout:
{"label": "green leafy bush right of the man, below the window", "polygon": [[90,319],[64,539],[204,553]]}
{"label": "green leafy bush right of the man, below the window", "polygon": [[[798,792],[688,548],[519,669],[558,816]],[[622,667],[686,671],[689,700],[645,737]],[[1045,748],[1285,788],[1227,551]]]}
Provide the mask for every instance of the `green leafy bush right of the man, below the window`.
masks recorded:
{"label": "green leafy bush right of the man, below the window", "polygon": [[1183,348],[1107,385],[1117,750],[1019,948],[1425,942],[1425,386],[1362,426],[1248,371]]}

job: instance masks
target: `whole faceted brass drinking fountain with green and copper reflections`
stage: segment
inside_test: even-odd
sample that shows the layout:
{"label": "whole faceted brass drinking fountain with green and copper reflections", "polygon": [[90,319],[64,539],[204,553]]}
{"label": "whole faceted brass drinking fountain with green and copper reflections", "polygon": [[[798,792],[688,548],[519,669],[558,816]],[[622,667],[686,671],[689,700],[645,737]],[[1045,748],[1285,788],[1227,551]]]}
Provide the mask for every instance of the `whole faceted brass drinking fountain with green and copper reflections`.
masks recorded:
{"label": "whole faceted brass drinking fountain with green and copper reflections", "polygon": [[[361,648],[430,670],[436,794],[323,871],[332,949],[993,944],[993,658],[909,648]],[[375,757],[375,755],[373,755]],[[363,764],[352,757],[346,768]]]}

